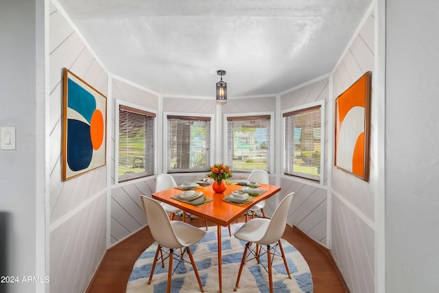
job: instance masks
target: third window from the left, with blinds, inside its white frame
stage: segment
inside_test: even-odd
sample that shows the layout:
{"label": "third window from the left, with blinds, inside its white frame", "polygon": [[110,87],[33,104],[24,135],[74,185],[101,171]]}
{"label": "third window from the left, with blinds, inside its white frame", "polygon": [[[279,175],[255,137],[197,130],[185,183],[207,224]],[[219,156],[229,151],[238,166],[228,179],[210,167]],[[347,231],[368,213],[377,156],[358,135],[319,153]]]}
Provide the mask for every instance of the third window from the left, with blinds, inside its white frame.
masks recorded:
{"label": "third window from the left, with blinds, inside its white frame", "polygon": [[270,172],[271,115],[227,117],[227,164],[233,171]]}

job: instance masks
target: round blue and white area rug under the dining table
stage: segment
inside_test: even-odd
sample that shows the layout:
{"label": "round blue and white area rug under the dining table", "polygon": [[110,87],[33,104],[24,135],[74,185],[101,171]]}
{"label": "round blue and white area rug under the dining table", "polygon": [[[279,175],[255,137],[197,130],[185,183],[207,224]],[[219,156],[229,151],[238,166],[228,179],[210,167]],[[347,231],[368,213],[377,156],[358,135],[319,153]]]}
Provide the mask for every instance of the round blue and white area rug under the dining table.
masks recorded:
{"label": "round blue and white area rug under the dining table", "polygon": [[[228,236],[226,227],[222,228],[222,291],[233,292],[244,253],[245,242],[233,237],[242,224],[232,224],[232,237]],[[200,274],[200,279],[204,287],[204,292],[219,292],[218,283],[218,258],[217,258],[217,227],[209,227],[204,239],[198,244],[191,246],[193,258]],[[272,265],[274,292],[313,292],[313,283],[309,266],[302,255],[287,241],[282,239],[283,250],[287,258],[287,264],[292,279],[288,279],[282,257],[275,256]],[[126,293],[137,292],[166,292],[167,286],[167,259],[165,268],[162,268],[158,261],[152,283],[147,285],[150,277],[154,255],[157,244],[148,247],[134,263],[134,268],[127,284]],[[177,250],[179,253],[180,250]],[[198,282],[190,264],[189,256],[185,254],[185,259],[189,263],[180,263],[172,275],[171,292],[200,292]],[[267,267],[267,255],[261,256],[261,262]],[[174,259],[174,268],[178,261]],[[264,270],[256,259],[252,259],[244,264],[239,288],[237,292],[269,292],[268,272]]]}

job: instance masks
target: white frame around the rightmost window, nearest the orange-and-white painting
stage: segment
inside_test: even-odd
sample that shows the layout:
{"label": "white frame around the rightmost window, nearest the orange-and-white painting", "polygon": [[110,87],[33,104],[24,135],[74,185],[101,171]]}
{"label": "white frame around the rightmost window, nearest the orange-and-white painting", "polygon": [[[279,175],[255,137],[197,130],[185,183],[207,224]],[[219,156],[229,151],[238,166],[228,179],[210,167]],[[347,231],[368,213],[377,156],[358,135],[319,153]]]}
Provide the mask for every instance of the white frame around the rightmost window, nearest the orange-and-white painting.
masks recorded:
{"label": "white frame around the rightmost window, nearest the orange-and-white painting", "polygon": [[[285,110],[282,110],[281,112],[281,119],[282,119],[282,126],[281,126],[281,134],[282,134],[282,175],[283,176],[287,176],[288,178],[297,178],[299,180],[306,180],[309,182],[313,182],[313,183],[317,183],[320,185],[324,185],[324,158],[325,156],[327,156],[326,152],[324,150],[326,150],[325,145],[324,145],[324,133],[326,132],[325,129],[325,107],[324,104],[325,100],[321,99],[317,102],[312,102],[309,104],[304,104],[301,106],[297,106],[294,108],[288,108]],[[294,175],[289,175],[289,174],[285,174],[285,149],[286,149],[286,141],[285,141],[285,117],[283,117],[284,113],[289,113],[289,112],[293,112],[293,111],[298,111],[298,110],[304,110],[307,108],[312,108],[312,107],[316,107],[316,106],[320,106],[320,180],[319,182],[316,182],[315,180],[311,180],[311,179],[307,179],[307,178],[303,178],[300,176],[294,176]]]}

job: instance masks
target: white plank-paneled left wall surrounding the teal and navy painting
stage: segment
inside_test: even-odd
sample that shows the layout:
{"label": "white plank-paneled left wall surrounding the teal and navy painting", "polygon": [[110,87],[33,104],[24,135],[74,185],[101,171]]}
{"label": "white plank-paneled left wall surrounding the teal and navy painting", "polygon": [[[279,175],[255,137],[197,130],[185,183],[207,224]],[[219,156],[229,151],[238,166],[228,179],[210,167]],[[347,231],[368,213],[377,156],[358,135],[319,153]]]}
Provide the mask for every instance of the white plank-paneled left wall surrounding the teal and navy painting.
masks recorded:
{"label": "white plank-paneled left wall surrounding the teal and navy painting", "polygon": [[56,5],[49,8],[51,292],[82,292],[106,250],[106,167],[61,180],[62,69],[106,95],[107,73]]}

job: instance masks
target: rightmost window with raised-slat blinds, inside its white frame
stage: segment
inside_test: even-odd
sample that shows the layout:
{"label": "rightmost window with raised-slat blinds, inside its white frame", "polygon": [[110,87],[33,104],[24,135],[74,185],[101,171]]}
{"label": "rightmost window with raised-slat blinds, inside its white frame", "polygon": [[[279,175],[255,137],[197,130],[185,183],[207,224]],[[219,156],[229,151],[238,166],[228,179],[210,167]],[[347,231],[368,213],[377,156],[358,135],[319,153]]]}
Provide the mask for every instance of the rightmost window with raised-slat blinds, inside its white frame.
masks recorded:
{"label": "rightmost window with raised-slat blinds, inside its white frame", "polygon": [[284,113],[285,174],[320,182],[321,106]]}

